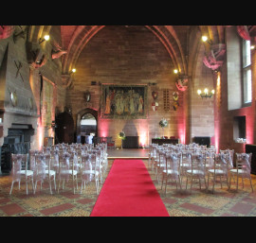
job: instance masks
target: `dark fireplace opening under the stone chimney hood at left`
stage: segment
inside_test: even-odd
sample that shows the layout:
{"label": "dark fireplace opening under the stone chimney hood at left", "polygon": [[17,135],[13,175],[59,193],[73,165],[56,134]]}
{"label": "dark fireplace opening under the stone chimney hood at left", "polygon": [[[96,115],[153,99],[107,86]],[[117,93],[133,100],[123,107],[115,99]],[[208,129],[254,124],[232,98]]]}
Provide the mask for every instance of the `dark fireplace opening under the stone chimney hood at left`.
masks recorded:
{"label": "dark fireplace opening under the stone chimney hood at left", "polygon": [[32,125],[11,125],[8,130],[8,136],[4,138],[4,144],[0,147],[1,171],[3,174],[9,174],[11,170],[11,153],[26,154],[29,152],[32,135],[34,135]]}

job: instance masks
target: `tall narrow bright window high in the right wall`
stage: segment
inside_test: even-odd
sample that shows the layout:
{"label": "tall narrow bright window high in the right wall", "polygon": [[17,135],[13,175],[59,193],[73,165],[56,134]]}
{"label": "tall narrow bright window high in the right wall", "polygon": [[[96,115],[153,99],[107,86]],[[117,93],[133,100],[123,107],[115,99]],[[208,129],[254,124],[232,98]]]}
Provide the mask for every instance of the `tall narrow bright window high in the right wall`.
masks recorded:
{"label": "tall narrow bright window high in the right wall", "polygon": [[250,41],[243,40],[243,90],[244,104],[251,103],[251,60],[250,60]]}

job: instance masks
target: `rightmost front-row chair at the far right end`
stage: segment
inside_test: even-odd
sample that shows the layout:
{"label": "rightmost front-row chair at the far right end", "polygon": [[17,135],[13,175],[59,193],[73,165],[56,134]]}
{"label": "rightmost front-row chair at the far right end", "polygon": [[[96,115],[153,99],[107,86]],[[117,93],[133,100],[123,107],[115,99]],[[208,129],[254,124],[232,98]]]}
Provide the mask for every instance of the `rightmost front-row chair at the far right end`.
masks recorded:
{"label": "rightmost front-row chair at the far right end", "polygon": [[[251,157],[252,153],[236,153],[236,167],[229,170],[229,189],[231,187],[231,178],[236,177],[236,190],[238,190],[239,178],[242,179],[244,188],[244,179],[248,179],[250,182],[251,191],[253,192],[253,186],[251,182]],[[234,179],[235,181],[235,179]]]}

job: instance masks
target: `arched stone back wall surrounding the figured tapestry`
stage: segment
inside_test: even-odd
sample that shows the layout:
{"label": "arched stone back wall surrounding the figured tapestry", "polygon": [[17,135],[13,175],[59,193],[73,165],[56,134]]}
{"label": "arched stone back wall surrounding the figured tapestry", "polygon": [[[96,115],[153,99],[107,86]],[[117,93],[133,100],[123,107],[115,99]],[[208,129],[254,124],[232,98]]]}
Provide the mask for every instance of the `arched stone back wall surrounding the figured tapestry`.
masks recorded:
{"label": "arched stone back wall surrounding the figured tapestry", "polygon": [[[67,104],[72,108],[74,120],[76,114],[84,108],[92,108],[100,113],[101,85],[97,84],[149,84],[148,118],[137,120],[101,119],[99,116],[99,136],[112,136],[120,146],[119,131],[125,129],[127,135],[140,136],[140,145],[148,146],[151,139],[162,136],[159,121],[165,117],[169,126],[164,130],[165,136],[175,136],[184,140],[183,94],[179,92],[179,107],[173,108],[175,87],[174,65],[165,49],[155,35],[145,26],[125,28],[123,26],[105,26],[87,43],[76,64],[73,88],[67,91]],[[163,108],[163,90],[170,93],[170,111]],[[83,93],[91,93],[91,101],[86,103]],[[152,92],[157,91],[158,110],[154,112]],[[143,140],[143,141],[142,141]]]}

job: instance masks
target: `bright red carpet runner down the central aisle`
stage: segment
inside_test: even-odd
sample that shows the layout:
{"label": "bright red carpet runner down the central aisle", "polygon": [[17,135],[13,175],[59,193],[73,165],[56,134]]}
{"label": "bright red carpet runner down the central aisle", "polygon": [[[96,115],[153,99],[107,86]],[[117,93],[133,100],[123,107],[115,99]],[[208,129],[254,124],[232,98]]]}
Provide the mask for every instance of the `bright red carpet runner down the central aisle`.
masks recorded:
{"label": "bright red carpet runner down the central aisle", "polygon": [[91,217],[169,217],[140,160],[115,160]]}

